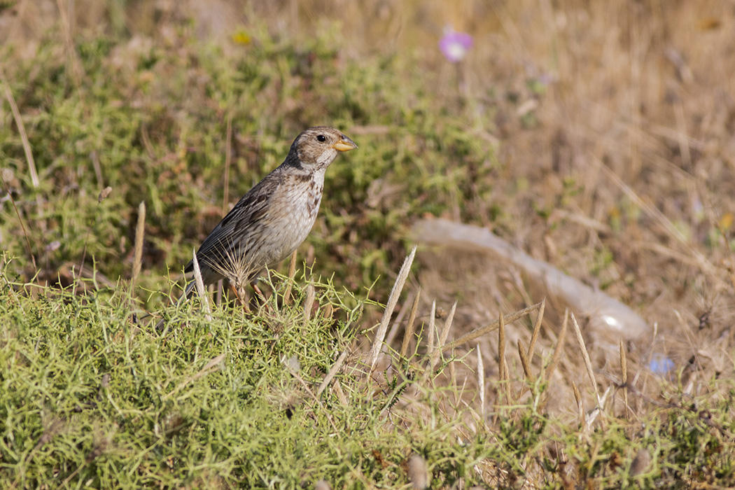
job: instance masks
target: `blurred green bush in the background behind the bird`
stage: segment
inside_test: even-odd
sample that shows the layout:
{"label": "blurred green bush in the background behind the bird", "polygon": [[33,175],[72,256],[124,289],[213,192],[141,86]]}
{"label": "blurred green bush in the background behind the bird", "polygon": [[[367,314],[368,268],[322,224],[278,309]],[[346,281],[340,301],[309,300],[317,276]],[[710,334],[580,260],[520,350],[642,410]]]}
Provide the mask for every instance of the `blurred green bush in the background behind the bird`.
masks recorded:
{"label": "blurred green bush in the background behind the bird", "polygon": [[[329,33],[297,46],[254,31],[253,42],[228,54],[201,46],[189,29],[177,35],[176,46],[77,37],[74,64],[51,35],[35,59],[9,73],[41,187],[30,186],[10,119],[0,124],[0,156],[17,179],[12,191],[29,241],[38,244],[35,255],[62,243],[47,257],[46,275],[78,262],[86,245],[107,277],[128,277],[123,259],[132,251],[140,201],[148,207],[143,270],[159,278],[162,264],[178,271],[222,215],[228,118],[230,203],[273,170],[308,126],[337,126],[359,144],[329,169],[309,237],[319,267],[349,289],[395,269],[412,217],[490,197],[490,145],[473,136],[463,109],[420,96],[420,80],[407,79],[391,57],[346,59]],[[368,130],[351,134],[356,127]],[[108,185],[112,193],[98,206]],[[19,272],[32,277],[10,202],[2,214],[4,235],[16,238],[8,250]],[[90,233],[72,236],[80,229]]]}

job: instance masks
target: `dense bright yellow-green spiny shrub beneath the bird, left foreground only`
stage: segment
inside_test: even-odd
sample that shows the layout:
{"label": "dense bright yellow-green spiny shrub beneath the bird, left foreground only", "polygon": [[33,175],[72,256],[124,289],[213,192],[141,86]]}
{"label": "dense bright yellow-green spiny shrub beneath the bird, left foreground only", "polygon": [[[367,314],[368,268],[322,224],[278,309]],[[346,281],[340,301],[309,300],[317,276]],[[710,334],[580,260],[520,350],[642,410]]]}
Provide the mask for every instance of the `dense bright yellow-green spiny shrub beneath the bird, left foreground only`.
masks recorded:
{"label": "dense bright yellow-green spiny shrub beneath the bird, left foreground only", "polygon": [[360,370],[334,378],[347,405],[332,389],[315,395],[365,305],[315,286],[320,307],[306,324],[297,288],[294,306],[252,316],[223,308],[210,321],[189,302],[159,336],[134,319],[124,289],[109,300],[35,289],[34,300],[6,282],[0,486],[392,487],[406,483],[412,451],[438,481],[476,481],[487,435],[460,444],[445,417],[393,425],[402,392],[374,389]]}

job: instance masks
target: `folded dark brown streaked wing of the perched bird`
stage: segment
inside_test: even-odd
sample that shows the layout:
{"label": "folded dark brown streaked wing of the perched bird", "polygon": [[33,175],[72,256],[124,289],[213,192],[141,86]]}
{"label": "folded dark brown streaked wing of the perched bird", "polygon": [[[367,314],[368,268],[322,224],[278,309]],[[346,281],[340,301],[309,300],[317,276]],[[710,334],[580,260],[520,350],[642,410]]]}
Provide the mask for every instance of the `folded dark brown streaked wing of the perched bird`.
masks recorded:
{"label": "folded dark brown streaked wing of the perched bird", "polygon": [[[264,179],[265,181],[265,179]],[[258,225],[264,217],[268,215],[268,201],[278,187],[281,186],[280,179],[273,179],[270,185],[273,189],[268,190],[262,185],[264,181],[260,181],[247,194],[237,201],[230,212],[222,218],[215,229],[204,239],[201,247],[196,253],[196,259],[199,264],[211,264],[219,262],[226,257],[226,251],[232,248],[239,239],[248,237],[250,230]],[[268,190],[268,192],[263,192]],[[190,261],[184,272],[191,272],[194,269],[193,261]]]}

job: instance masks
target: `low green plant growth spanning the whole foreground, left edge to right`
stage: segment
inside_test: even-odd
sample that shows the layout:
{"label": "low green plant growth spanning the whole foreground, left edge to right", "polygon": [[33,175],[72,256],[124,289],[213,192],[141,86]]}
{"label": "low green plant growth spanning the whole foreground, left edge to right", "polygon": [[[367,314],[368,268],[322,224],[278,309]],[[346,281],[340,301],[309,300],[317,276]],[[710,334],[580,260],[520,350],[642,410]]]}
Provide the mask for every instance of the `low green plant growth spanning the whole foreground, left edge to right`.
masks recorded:
{"label": "low green plant growth spanning the whole foreground, left edge to right", "polygon": [[160,333],[124,285],[39,287],[12,281],[10,270],[5,256],[3,488],[293,489],[320,479],[395,488],[416,481],[414,456],[432,487],[735,480],[731,381],[714,381],[731,386],[719,401],[673,395],[634,421],[600,414],[587,427],[545,413],[554,393],[537,378],[482,419],[476,402],[457,403],[476,393],[444,377],[465,359],[429,370],[431,351],[418,348],[426,328],[408,357],[392,353],[370,372],[356,346],[375,303],[307,281],[306,271],[277,276],[249,313],[223,304],[207,314],[197,299],[171,306]]}

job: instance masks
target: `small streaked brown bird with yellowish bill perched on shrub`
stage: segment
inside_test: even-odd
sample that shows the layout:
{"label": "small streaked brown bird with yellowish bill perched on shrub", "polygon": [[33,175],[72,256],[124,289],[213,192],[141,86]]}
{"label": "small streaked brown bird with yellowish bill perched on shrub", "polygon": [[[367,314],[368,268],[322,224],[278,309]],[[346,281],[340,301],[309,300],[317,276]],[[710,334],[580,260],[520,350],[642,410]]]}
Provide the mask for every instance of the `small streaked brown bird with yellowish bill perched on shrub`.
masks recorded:
{"label": "small streaked brown bird with yellowish bill perched on shrub", "polygon": [[[326,167],[357,145],[337,129],[315,126],[293,140],[284,162],[240,198],[196,253],[204,284],[227,279],[235,292],[304,242],[319,211]],[[184,272],[194,269],[193,261]],[[187,298],[194,281],[187,284]]]}

